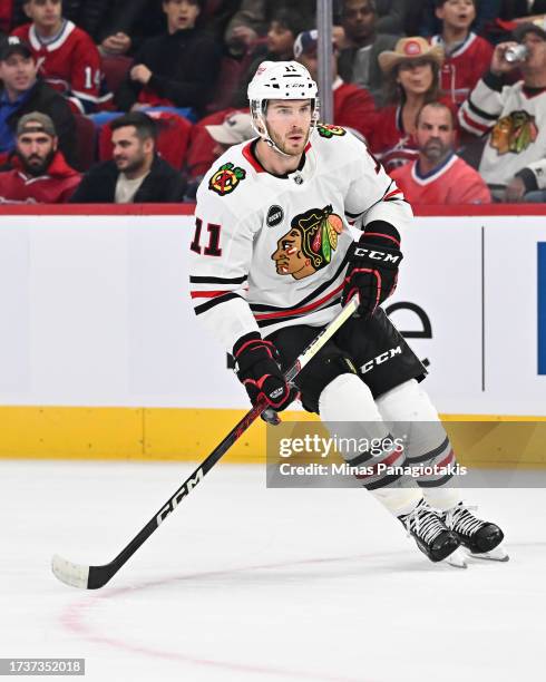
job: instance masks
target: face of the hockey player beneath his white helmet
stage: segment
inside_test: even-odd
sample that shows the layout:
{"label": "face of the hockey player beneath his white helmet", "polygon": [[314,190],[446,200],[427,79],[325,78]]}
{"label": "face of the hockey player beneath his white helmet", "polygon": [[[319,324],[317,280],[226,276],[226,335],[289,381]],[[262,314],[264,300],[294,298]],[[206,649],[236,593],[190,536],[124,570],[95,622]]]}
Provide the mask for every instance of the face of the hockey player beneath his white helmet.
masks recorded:
{"label": "face of the hockey player beneath his white helmet", "polygon": [[272,99],[265,120],[271,139],[290,156],[303,154],[311,133],[311,100]]}

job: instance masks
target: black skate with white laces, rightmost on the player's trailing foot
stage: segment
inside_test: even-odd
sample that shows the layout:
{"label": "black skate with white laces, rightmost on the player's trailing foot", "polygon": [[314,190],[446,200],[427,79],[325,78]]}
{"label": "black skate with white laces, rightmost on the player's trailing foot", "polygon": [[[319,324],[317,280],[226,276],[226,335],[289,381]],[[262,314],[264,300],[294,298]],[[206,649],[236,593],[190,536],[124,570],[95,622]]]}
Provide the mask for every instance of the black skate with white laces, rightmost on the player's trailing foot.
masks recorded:
{"label": "black skate with white laces, rightmost on the player's trailing foot", "polygon": [[507,562],[509,556],[504,547],[499,546],[504,538],[503,530],[496,524],[477,518],[470,509],[475,507],[466,507],[459,503],[442,514],[442,522],[456,534],[470,556]]}

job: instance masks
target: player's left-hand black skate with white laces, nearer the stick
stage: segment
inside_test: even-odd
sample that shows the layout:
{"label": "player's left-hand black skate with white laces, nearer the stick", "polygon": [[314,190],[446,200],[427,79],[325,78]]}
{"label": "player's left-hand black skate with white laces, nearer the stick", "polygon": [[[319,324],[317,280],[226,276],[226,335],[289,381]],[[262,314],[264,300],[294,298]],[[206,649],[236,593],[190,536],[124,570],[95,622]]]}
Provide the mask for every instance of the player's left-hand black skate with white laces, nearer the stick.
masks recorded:
{"label": "player's left-hand black skate with white laces, nearer the stick", "polygon": [[[452,555],[460,546],[460,540],[451,533],[440,516],[421,499],[410,514],[398,517],[406,526],[408,534],[412,535],[419,549],[431,562],[441,562]],[[457,557],[456,557],[457,558]],[[458,567],[466,567],[462,561],[456,561]]]}

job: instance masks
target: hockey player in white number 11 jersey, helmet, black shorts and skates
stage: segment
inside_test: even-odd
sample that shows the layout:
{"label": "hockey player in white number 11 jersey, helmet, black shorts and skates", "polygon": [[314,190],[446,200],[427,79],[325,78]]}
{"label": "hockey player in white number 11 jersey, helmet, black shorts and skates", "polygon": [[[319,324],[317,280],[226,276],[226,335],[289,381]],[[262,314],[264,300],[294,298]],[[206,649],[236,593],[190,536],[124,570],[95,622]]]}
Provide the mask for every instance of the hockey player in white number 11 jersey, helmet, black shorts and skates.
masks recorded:
{"label": "hockey player in white number 11 jersey, helmet, black shorts and skates", "polygon": [[[333,436],[349,428],[381,444],[379,455],[341,454],[350,466],[371,461],[359,480],[431,561],[465,566],[461,545],[507,558],[500,528],[461,501],[449,439],[419,384],[426,370],[381,308],[411,208],[362,142],[318,123],[316,92],[295,61],[257,68],[248,86],[256,138],[221,156],[197,192],[195,312],[232,352],[254,405],[265,400],[271,413],[298,398]],[[362,230],[358,242],[350,222]],[[289,386],[283,370],[353,296],[358,313]],[[404,448],[387,422],[411,423]],[[412,462],[430,468],[408,481],[398,470]]]}

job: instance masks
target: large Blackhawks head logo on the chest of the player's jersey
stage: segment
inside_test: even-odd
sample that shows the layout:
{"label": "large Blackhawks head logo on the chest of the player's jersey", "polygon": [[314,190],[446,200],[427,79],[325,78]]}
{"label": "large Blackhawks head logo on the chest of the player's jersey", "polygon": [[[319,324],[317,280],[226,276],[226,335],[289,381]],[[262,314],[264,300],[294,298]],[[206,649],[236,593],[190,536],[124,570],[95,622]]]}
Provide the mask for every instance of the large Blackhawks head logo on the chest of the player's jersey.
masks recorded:
{"label": "large Blackhawks head logo on the chest of the player's jersey", "polygon": [[277,274],[302,280],[328,265],[342,231],[343,222],[330,205],[296,215],[271,256]]}

